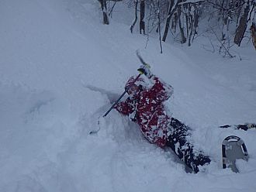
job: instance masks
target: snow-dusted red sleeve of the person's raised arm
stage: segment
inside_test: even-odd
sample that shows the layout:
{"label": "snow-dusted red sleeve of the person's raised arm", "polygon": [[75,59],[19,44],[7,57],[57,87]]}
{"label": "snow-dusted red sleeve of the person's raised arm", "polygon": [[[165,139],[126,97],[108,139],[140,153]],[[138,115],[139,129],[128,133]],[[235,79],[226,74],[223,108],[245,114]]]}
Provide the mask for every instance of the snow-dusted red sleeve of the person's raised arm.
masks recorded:
{"label": "snow-dusted red sleeve of the person's raised arm", "polygon": [[166,84],[160,78],[153,75],[153,77],[150,78],[150,82],[154,84],[153,87],[150,88],[150,92],[155,95],[157,100],[166,101],[173,94],[173,87]]}

